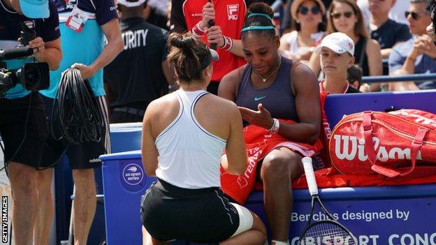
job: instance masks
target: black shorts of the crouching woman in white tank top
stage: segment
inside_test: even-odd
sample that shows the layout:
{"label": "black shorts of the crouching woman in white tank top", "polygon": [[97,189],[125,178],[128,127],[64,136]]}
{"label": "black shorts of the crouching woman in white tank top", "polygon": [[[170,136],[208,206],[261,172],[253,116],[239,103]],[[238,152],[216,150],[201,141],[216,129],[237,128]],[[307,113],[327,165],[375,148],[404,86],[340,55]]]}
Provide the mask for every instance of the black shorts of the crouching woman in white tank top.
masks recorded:
{"label": "black shorts of the crouching woman in white tank top", "polygon": [[240,216],[219,188],[186,189],[161,179],[141,200],[141,220],[155,239],[217,243],[238,230]]}

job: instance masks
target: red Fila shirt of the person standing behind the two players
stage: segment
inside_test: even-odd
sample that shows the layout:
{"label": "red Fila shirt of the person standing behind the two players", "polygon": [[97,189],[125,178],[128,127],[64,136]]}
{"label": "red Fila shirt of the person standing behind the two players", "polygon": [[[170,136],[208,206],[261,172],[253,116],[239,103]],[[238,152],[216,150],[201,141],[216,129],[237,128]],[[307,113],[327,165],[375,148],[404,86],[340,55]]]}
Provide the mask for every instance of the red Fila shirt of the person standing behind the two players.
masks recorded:
{"label": "red Fila shirt of the person standing behind the two players", "polygon": [[[199,21],[203,6],[208,0],[172,0],[171,7],[171,31],[183,33],[190,31]],[[240,40],[240,31],[247,13],[247,6],[251,1],[244,0],[213,0],[215,6],[215,24],[221,27],[224,36],[233,40]],[[206,35],[202,37],[208,43]],[[214,63],[212,81],[219,82],[224,75],[235,68],[244,65],[246,62],[242,57],[238,57],[231,52],[217,48],[219,61]]]}

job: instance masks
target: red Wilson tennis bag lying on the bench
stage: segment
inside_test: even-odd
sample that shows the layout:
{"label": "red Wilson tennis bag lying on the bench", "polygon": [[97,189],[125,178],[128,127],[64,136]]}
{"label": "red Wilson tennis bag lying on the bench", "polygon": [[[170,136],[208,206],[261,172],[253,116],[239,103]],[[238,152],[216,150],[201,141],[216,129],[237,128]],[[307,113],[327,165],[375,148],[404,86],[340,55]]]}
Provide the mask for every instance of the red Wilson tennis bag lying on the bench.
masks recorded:
{"label": "red Wilson tennis bag lying on the bench", "polygon": [[436,115],[421,110],[361,112],[344,117],[330,136],[330,158],[339,172],[386,177],[436,167]]}

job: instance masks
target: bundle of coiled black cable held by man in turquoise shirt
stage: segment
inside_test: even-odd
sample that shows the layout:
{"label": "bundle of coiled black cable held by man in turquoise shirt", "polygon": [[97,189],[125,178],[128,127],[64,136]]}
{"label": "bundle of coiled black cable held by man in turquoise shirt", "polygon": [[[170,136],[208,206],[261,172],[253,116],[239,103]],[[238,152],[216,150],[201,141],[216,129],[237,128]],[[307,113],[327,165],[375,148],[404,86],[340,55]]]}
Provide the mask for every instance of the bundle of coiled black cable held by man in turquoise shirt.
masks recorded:
{"label": "bundle of coiled black cable held by man in turquoise shirt", "polygon": [[101,110],[78,68],[65,70],[57,89],[50,131],[54,139],[68,142],[99,142],[103,127]]}

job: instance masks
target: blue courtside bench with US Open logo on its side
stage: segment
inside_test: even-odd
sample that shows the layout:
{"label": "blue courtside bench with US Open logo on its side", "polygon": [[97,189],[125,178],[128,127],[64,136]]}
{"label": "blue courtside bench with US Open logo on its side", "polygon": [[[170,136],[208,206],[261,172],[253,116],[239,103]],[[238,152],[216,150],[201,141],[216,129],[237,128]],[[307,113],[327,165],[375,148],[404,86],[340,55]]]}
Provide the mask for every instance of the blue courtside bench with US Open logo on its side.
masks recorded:
{"label": "blue courtside bench with US Open logo on its side", "polygon": [[[344,114],[391,107],[436,113],[436,91],[328,96],[326,114],[333,126]],[[139,137],[140,133],[130,134],[124,140]],[[107,243],[140,244],[140,196],[154,178],[145,175],[140,151],[101,156],[101,159]],[[297,244],[307,222],[310,197],[307,190],[294,190],[293,195],[289,240]],[[326,208],[354,232],[360,245],[436,244],[436,184],[324,188],[320,195]],[[266,221],[261,191],[254,191],[245,206]]]}

